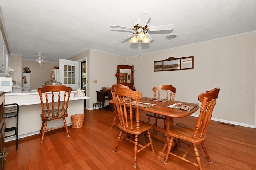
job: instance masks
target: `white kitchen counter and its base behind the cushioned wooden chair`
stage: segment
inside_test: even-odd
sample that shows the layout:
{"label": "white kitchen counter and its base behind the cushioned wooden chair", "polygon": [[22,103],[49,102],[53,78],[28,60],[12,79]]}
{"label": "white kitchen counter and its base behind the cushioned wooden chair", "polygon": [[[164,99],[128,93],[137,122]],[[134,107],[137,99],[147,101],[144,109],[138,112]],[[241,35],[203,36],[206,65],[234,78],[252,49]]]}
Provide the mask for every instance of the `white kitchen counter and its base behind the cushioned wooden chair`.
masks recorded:
{"label": "white kitchen counter and its base behind the cushioned wooden chair", "polygon": [[[74,93],[77,93],[77,91],[71,91],[68,104],[68,117],[66,117],[68,126],[70,126],[72,122],[71,115],[84,113],[84,99],[89,99],[88,96],[75,97]],[[18,103],[19,105],[19,138],[39,134],[42,125],[40,117],[42,108],[37,90],[6,92],[5,104],[10,103]],[[16,118],[5,119],[5,121],[6,128],[14,127],[16,125]],[[60,125],[63,125],[62,119],[49,122],[47,128],[58,127]],[[40,138],[40,136],[38,136],[38,138]],[[5,138],[5,142],[15,139],[15,136]]]}

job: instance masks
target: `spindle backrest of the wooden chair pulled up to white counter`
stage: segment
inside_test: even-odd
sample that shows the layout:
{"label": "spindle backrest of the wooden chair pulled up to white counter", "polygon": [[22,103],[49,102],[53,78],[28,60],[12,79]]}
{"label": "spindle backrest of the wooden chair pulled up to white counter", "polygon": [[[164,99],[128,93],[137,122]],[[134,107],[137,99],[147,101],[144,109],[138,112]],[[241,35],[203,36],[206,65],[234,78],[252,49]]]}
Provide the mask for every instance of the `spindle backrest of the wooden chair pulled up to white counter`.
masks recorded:
{"label": "spindle backrest of the wooden chair pulled up to white counter", "polygon": [[[49,85],[38,88],[37,91],[41,101],[43,117],[61,117],[64,114],[67,114],[71,90],[71,87],[65,85]],[[60,102],[62,102],[62,105],[60,105]],[[44,103],[47,112],[45,111]],[[47,116],[46,113],[48,114]]]}

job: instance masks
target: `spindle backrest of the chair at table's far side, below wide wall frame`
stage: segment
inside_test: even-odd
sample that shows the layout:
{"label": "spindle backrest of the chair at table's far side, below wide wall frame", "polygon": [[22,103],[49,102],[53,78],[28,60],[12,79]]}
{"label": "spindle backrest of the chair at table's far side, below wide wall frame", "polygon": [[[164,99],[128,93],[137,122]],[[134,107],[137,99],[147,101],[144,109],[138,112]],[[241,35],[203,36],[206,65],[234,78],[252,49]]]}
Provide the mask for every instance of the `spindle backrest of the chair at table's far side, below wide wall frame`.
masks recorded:
{"label": "spindle backrest of the chair at table's far side, below wide wall frame", "polygon": [[[154,91],[154,98],[155,99],[165,99],[165,100],[174,100],[176,88],[172,85],[160,85],[157,87],[153,87]],[[158,93],[158,96],[156,98],[156,93]],[[161,97],[162,94],[162,98]]]}

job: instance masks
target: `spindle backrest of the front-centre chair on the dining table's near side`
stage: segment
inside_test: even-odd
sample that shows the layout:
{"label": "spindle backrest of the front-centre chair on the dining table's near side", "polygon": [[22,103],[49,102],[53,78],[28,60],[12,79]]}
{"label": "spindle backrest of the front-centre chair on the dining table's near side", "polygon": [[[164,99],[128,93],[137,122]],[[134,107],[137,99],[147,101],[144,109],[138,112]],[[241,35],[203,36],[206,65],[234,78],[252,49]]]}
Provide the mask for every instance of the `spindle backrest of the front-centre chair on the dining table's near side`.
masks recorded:
{"label": "spindle backrest of the front-centre chair on the dining table's near side", "polygon": [[[114,91],[114,99],[120,117],[120,124],[127,130],[135,130],[133,129],[133,124],[136,124],[136,130],[140,130],[139,100],[142,97],[142,94],[138,91],[133,91],[124,87],[114,87]],[[132,99],[134,99],[134,102],[132,102]],[[132,105],[136,106],[135,110],[132,109]],[[129,117],[128,109],[130,111]],[[134,113],[136,113],[136,122],[132,121],[135,115]]]}

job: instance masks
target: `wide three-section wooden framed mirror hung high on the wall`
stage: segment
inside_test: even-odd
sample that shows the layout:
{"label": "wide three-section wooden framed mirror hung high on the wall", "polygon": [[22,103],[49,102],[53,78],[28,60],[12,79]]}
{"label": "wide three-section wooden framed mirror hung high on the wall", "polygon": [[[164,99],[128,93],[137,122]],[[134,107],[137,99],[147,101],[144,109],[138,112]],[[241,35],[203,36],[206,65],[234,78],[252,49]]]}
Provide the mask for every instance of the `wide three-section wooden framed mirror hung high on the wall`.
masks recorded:
{"label": "wide three-section wooden framed mirror hung high on the wall", "polygon": [[194,69],[194,56],[154,61],[154,71],[174,71]]}

